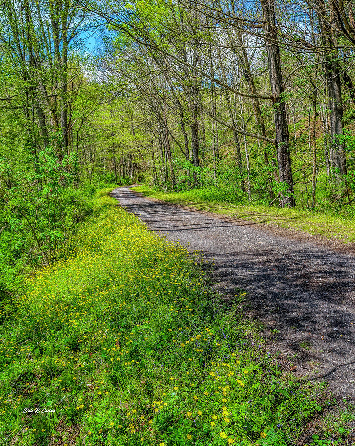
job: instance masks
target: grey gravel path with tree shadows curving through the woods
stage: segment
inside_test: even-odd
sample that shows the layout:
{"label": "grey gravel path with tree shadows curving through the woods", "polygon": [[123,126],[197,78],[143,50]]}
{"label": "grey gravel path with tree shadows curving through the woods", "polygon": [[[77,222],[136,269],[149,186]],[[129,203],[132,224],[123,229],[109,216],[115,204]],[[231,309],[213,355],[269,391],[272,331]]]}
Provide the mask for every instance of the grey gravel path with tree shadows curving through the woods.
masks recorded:
{"label": "grey gravel path with tree shadows curving through the woods", "polygon": [[270,350],[297,374],[326,380],[355,401],[355,257],[260,230],[257,224],[148,200],[129,187],[112,192],[153,231],[214,259],[219,291],[247,291],[247,313],[277,332]]}

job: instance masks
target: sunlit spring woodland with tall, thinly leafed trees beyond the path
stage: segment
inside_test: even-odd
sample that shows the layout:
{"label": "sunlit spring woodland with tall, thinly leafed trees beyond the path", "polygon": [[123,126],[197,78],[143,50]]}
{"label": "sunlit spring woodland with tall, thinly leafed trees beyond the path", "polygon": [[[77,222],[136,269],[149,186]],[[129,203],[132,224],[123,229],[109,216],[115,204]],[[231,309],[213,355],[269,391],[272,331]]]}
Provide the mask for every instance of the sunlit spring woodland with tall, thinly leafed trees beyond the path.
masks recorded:
{"label": "sunlit spring woodland with tall, thinly leafed trees beyond the path", "polygon": [[5,1],[4,263],[51,264],[98,182],[352,215],[353,14],[334,1]]}

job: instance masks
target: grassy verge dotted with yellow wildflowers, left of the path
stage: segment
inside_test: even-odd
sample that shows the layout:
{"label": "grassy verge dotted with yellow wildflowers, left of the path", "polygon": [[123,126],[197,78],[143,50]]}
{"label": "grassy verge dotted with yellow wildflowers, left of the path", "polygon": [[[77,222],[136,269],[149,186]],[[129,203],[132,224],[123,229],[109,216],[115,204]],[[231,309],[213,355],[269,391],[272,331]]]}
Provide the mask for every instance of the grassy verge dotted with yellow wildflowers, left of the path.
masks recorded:
{"label": "grassy verge dotted with yellow wildflowers, left of the path", "polygon": [[223,304],[185,248],[106,192],[70,258],[1,309],[0,442],[294,445],[323,386],[282,371],[243,296]]}

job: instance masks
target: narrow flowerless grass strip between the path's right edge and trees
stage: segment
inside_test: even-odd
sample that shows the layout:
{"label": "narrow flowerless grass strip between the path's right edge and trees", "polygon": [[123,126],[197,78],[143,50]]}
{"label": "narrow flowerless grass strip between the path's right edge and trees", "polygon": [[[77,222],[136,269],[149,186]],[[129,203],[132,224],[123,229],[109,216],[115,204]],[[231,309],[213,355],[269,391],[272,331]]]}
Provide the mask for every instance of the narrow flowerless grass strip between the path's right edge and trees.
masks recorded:
{"label": "narrow flowerless grass strip between the path's right edge and trees", "polygon": [[355,220],[349,216],[296,208],[284,209],[264,205],[234,204],[227,201],[223,195],[219,198],[213,189],[192,189],[185,192],[166,193],[147,186],[138,186],[134,190],[146,197],[193,206],[202,211],[215,212],[241,220],[276,224],[311,235],[320,235],[329,239],[336,238],[343,243],[355,241]]}

